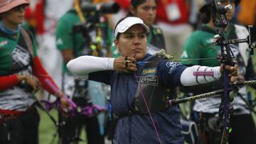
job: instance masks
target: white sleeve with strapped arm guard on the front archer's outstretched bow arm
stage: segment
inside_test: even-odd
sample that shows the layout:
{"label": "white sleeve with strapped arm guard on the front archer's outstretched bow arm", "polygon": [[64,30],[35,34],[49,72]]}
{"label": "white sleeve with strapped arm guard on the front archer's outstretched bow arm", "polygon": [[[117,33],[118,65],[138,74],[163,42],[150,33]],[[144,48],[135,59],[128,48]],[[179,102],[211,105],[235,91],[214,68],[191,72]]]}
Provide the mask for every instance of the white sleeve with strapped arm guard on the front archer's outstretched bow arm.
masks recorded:
{"label": "white sleeve with strapped arm guard on the front archer's outstretched bow arm", "polygon": [[196,84],[206,84],[220,79],[220,67],[206,67],[194,65],[186,68],[181,74],[181,84],[183,86],[193,86]]}

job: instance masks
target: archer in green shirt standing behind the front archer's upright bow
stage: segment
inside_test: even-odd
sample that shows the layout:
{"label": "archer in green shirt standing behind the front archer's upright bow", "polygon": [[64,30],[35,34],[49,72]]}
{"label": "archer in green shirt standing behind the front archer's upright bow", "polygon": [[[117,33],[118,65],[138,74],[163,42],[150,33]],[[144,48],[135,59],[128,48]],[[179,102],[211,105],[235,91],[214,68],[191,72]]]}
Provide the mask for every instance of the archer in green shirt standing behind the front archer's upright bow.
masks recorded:
{"label": "archer in green shirt standing behind the front archer's upright bow", "polygon": [[[183,47],[181,55],[182,59],[201,59],[208,57],[217,57],[220,55],[220,46],[213,45],[213,37],[217,33],[214,30],[212,7],[213,0],[207,0],[200,12],[203,16],[203,26],[195,31],[187,40]],[[240,3],[240,0],[222,0],[221,4],[226,6],[232,5],[232,10],[226,13],[228,21],[233,17],[235,6]],[[233,23],[228,23],[225,28],[225,39],[242,39],[247,38],[249,35],[247,29],[244,26],[238,26]],[[250,57],[250,50],[247,43],[230,44],[230,48],[239,65],[238,80],[250,80],[255,79],[255,71],[252,65],[252,58]],[[183,61],[184,65],[204,65],[208,67],[214,67],[220,65],[220,62],[216,60],[191,60]],[[193,87],[193,94],[201,94],[206,91],[211,92],[216,89],[222,88],[222,82],[208,84],[207,86],[201,85]],[[256,87],[254,87],[256,88]],[[185,89],[186,90],[186,89]],[[235,95],[235,99],[230,104],[233,105],[233,118],[231,121],[232,131],[228,138],[229,144],[235,143],[256,143],[256,130],[255,123],[252,119],[247,99],[246,87],[240,87],[238,94]],[[193,104],[193,113],[191,116],[198,124],[198,129],[201,135],[201,143],[220,143],[222,137],[222,131],[218,126],[218,112],[220,108],[220,95],[215,97],[208,97],[206,99],[198,99]]]}

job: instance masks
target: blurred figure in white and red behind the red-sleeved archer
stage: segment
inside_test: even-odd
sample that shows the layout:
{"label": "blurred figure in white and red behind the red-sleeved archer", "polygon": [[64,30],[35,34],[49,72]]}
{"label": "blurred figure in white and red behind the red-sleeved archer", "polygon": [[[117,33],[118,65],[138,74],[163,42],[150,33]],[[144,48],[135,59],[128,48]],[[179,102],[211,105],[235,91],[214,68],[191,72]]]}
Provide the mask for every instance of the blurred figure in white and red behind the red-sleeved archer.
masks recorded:
{"label": "blurred figure in white and red behind the red-sleeved archer", "polygon": [[[73,0],[29,0],[30,5],[25,11],[28,28],[34,31],[37,42],[38,57],[43,66],[61,87],[62,57],[56,48],[55,31],[58,19],[73,6]],[[56,9],[58,7],[58,9]],[[47,100],[48,93],[41,92],[41,99]],[[54,100],[48,99],[50,101]]]}

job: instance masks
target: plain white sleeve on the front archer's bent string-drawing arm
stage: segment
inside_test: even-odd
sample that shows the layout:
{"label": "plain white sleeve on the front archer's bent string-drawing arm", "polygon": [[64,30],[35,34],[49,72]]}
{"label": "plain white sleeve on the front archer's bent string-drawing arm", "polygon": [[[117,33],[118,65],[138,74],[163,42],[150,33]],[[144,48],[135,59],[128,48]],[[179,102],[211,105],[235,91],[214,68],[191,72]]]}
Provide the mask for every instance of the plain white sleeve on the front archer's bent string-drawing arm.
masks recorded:
{"label": "plain white sleeve on the front archer's bent string-drawing arm", "polygon": [[71,73],[76,75],[85,75],[102,70],[113,70],[114,58],[85,55],[70,60],[67,67]]}

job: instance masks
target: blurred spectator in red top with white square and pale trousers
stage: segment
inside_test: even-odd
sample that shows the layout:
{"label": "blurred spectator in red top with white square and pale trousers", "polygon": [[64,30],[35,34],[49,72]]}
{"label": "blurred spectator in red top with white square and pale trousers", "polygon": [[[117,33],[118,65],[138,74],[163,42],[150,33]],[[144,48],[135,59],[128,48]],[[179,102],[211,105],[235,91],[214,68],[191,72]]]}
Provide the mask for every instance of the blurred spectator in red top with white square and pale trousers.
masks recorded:
{"label": "blurred spectator in red top with white square and pale trousers", "polygon": [[[193,31],[197,20],[195,0],[159,0],[156,24],[164,31],[166,51],[180,55],[183,43]],[[191,25],[192,24],[192,25]]]}

